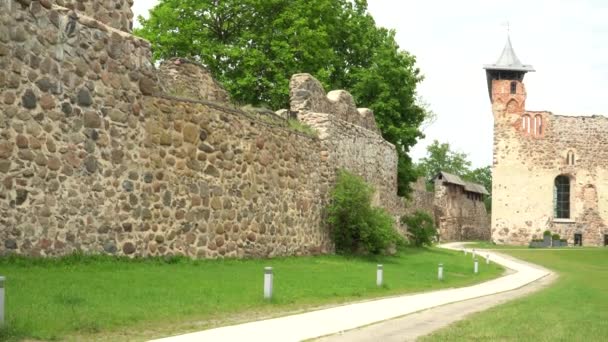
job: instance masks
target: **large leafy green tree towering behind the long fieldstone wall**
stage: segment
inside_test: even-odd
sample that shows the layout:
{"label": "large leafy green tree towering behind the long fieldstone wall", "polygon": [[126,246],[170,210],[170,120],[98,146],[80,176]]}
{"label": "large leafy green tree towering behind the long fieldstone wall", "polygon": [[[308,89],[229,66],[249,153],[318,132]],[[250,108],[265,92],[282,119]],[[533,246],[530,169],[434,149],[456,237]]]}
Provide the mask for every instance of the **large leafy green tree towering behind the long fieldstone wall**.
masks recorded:
{"label": "large leafy green tree towering behind the long fieldstone wall", "polygon": [[195,59],[240,103],[285,108],[290,77],[302,72],[349,90],[397,147],[399,193],[409,192],[417,174],[408,152],[427,115],[416,100],[423,77],[367,1],[161,0],[139,20],[136,34],[152,42],[156,60]]}

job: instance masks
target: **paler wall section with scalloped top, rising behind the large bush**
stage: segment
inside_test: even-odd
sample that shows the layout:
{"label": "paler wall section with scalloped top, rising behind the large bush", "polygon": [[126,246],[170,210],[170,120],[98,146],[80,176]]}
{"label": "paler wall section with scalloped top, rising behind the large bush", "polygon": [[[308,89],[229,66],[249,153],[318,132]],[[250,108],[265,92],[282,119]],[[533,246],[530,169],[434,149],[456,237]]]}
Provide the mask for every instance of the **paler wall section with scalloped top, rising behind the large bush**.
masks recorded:
{"label": "paler wall section with scalloped top, rising behind the large bush", "polygon": [[397,151],[380,135],[373,113],[358,110],[348,92],[326,96],[321,83],[308,74],[292,77],[290,95],[291,112],[317,130],[329,163],[372,184],[375,205],[395,216],[403,214],[404,200],[397,196]]}

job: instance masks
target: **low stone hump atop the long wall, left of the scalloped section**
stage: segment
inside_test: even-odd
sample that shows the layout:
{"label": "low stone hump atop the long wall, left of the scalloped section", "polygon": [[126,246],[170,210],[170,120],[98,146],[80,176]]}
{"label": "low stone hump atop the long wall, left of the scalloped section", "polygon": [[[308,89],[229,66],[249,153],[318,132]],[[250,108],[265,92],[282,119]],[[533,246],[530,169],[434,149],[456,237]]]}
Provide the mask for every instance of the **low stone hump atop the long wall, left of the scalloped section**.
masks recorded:
{"label": "low stone hump atop the long wall, left of the scalloped section", "polygon": [[160,79],[167,94],[194,100],[229,103],[228,92],[202,65],[184,58],[160,64]]}

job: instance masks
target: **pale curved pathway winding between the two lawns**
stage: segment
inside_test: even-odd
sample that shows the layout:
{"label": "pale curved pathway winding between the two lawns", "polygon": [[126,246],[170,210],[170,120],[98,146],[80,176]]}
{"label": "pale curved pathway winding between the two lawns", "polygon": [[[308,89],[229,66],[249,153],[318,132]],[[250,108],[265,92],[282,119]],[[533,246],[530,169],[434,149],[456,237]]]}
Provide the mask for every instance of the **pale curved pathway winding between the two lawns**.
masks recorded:
{"label": "pale curved pathway winding between the two lawns", "polygon": [[[442,245],[441,247],[461,250],[462,244],[451,243]],[[210,329],[157,341],[283,342],[314,339],[392,320],[446,304],[516,290],[552,274],[551,271],[540,266],[507,257],[494,251],[484,251],[483,253],[484,255],[489,254],[493,262],[512,270],[511,274],[468,287],[347,304],[303,314]],[[507,295],[506,297],[508,298],[509,296]],[[404,317],[403,320],[405,319]],[[363,338],[362,340],[366,340],[365,334],[359,337]],[[371,339],[376,339],[376,337],[372,337]],[[403,341],[404,338],[400,337],[399,340]]]}

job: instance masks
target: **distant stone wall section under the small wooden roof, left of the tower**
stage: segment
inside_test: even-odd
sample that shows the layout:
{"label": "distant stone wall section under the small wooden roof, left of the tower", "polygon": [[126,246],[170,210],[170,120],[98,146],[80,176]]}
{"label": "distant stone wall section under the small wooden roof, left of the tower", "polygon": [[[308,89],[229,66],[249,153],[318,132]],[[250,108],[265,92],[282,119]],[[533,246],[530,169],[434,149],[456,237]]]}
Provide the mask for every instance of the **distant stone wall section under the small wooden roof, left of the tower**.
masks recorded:
{"label": "distant stone wall section under the small wooden roof, left of the tower", "polygon": [[482,200],[464,188],[435,181],[435,219],[442,242],[490,240],[490,217]]}

